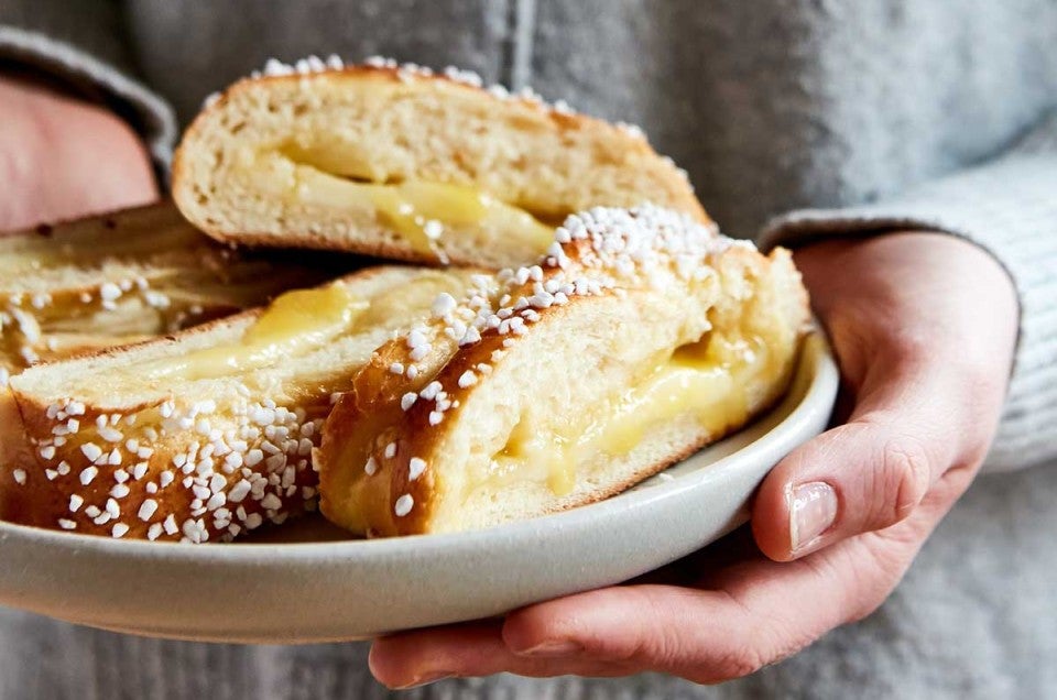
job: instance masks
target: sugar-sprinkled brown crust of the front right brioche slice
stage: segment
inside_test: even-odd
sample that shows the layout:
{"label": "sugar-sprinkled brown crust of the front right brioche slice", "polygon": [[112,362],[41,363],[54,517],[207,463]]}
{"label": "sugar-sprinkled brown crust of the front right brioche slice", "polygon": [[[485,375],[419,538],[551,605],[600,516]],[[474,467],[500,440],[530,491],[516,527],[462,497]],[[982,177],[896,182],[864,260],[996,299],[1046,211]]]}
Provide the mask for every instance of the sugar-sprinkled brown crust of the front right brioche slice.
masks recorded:
{"label": "sugar-sprinkled brown crust of the front right brioche slice", "polygon": [[[782,274],[792,274],[788,286],[796,293],[780,303],[788,304],[780,311],[795,328],[806,318],[806,296],[787,253],[773,255]],[[453,448],[445,442],[453,429],[446,414],[484,391],[511,348],[543,321],[554,320],[558,328],[578,305],[603,306],[606,299],[645,297],[657,289],[664,289],[662,298],[689,294],[715,276],[710,263],[717,256],[727,267],[748,269],[747,274],[766,263],[751,243],[721,237],[685,215],[653,206],[595,208],[557,230],[540,264],[481,276],[461,300],[439,298],[434,320],[383,346],[328,418],[317,459],[324,513],[347,515],[340,500],[348,497],[350,481],[358,480],[352,486],[361,492],[358,507],[367,511],[359,525],[386,535],[429,532],[436,500],[431,460]],[[724,292],[750,293],[741,287]],[[697,321],[707,327],[704,313]],[[694,328],[687,333],[696,339],[700,330]],[[534,348],[555,353],[554,361],[560,362],[577,352],[577,338],[582,336],[574,333],[560,349]],[[388,369],[393,364],[404,369],[403,375],[393,375]],[[352,480],[350,470],[357,473]],[[366,479],[358,472],[374,475]]]}

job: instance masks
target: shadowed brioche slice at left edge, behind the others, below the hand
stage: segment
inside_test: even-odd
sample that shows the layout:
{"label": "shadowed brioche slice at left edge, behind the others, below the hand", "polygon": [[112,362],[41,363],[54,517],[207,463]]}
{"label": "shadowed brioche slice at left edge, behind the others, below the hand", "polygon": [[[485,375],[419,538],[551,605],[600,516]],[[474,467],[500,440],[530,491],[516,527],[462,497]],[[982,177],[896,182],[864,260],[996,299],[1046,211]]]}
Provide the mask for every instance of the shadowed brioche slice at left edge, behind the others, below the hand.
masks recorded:
{"label": "shadowed brioche slice at left edge, behind the others, below the hand", "polygon": [[36,362],[174,332],[325,278],[220,245],[172,203],[4,234],[0,391]]}

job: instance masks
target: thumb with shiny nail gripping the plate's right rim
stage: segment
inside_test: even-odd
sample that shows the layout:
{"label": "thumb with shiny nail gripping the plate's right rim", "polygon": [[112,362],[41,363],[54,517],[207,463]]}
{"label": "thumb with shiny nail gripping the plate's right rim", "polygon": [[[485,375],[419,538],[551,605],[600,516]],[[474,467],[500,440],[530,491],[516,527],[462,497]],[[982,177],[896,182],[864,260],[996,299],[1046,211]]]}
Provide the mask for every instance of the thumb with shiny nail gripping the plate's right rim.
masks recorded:
{"label": "thumb with shiny nail gripping the plate's right rim", "polygon": [[763,553],[785,561],[884,529],[948,469],[980,461],[982,446],[962,447],[974,433],[965,385],[944,363],[875,361],[848,423],[789,453],[761,485],[752,528]]}

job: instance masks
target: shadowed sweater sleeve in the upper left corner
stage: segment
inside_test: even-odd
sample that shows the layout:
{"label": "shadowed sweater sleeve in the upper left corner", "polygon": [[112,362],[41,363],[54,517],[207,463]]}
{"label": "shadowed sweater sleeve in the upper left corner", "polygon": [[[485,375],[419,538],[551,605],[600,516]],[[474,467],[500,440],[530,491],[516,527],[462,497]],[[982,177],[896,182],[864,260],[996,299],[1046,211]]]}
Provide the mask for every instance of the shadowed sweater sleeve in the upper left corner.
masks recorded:
{"label": "shadowed sweater sleeve in the upper left corner", "polygon": [[172,157],[172,108],[134,79],[115,0],[3,0],[0,72],[31,68],[105,102],[143,138],[164,172]]}

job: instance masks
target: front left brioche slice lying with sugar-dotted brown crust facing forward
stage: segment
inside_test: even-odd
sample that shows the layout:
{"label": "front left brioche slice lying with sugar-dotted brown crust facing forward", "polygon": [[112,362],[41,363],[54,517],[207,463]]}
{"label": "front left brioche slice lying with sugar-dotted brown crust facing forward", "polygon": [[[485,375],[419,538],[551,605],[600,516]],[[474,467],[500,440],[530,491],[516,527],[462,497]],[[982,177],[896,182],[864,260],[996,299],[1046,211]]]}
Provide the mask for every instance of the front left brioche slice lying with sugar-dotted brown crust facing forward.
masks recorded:
{"label": "front left brioche slice lying with sugar-dotted brown crust facing forward", "polygon": [[312,507],[331,393],[472,272],[374,267],[175,336],[11,379],[0,516],[77,533],[231,539]]}

